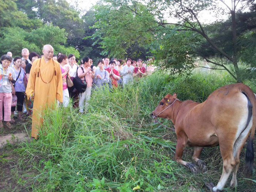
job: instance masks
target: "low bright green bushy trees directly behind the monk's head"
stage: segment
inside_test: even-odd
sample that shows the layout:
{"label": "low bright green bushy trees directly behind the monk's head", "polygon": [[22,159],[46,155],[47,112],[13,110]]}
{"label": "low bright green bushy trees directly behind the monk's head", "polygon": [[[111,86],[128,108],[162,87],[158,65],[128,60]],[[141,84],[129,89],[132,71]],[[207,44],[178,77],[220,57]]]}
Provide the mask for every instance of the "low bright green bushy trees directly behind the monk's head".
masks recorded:
{"label": "low bright green bushy trees directly behind the monk's head", "polygon": [[1,30],[1,34],[3,34],[3,37],[0,38],[1,54],[11,51],[14,56],[19,56],[25,47],[30,51],[42,53],[43,46],[50,44],[55,52],[80,56],[75,48],[61,45],[67,41],[67,33],[64,29],[51,24],[34,29],[30,33],[19,27],[6,27]]}

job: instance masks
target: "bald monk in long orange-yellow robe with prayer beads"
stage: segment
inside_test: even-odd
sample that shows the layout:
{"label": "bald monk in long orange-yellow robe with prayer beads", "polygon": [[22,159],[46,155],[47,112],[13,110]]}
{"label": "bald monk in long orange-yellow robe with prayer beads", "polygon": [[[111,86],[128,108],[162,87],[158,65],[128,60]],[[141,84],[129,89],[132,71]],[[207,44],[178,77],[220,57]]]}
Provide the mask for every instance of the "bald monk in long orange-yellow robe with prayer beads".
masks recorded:
{"label": "bald monk in long orange-yellow robe with prayer beads", "polygon": [[43,122],[41,118],[46,105],[53,108],[55,103],[62,102],[62,76],[60,64],[52,59],[53,47],[45,45],[44,56],[33,62],[27,83],[27,98],[33,99],[31,137],[38,138],[38,129]]}

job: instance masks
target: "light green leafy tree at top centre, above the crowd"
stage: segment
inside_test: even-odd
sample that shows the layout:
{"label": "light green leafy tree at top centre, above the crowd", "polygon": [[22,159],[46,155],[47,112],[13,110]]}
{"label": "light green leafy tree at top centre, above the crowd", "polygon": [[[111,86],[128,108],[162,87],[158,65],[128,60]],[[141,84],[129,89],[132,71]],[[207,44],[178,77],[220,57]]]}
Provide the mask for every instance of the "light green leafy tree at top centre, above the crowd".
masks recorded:
{"label": "light green leafy tree at top centre, above the crowd", "polygon": [[[99,1],[95,8],[97,22],[93,38],[97,38],[102,55],[113,57],[138,57],[133,48],[145,46],[154,39],[157,24],[154,15],[137,1]],[[104,5],[105,4],[105,5]],[[128,54],[129,51],[129,54]]]}

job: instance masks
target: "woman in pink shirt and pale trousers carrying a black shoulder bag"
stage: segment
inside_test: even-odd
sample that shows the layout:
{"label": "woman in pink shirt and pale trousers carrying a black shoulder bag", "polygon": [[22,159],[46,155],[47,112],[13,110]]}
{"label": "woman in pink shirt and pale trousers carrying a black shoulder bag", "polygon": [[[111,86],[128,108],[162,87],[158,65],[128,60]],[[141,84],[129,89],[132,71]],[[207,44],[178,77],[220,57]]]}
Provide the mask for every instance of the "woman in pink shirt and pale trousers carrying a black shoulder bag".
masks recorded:
{"label": "woman in pink shirt and pale trousers carrying a black shoulder bag", "polygon": [[[93,84],[94,71],[91,69],[91,63],[89,57],[84,57],[81,61],[82,65],[78,67],[77,74],[82,81],[87,83],[86,90],[79,94],[79,112],[83,113],[88,109],[89,99],[91,96],[91,86]],[[84,102],[85,101],[85,102]],[[84,106],[85,105],[85,106]]]}

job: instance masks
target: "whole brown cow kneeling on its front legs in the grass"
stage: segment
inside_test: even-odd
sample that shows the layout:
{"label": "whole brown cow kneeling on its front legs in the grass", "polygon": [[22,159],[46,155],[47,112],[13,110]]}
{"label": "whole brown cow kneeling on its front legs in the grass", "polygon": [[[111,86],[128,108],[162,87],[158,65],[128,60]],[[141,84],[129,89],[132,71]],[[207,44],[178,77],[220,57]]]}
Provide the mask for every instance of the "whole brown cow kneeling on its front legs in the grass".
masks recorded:
{"label": "whole brown cow kneeling on its front legs in the grass", "polygon": [[[176,98],[176,93],[173,96],[167,94],[151,115],[154,118],[172,120],[177,135],[175,160],[194,173],[199,169],[203,171],[206,169],[206,164],[199,159],[203,147],[219,144],[223,169],[217,186],[210,184],[212,191],[222,190],[232,171],[230,186],[237,186],[239,156],[251,132],[246,148],[245,171],[246,176],[252,175],[256,98],[248,86],[238,83],[221,87],[203,103],[191,100],[181,102]],[[192,159],[199,167],[181,159],[185,146],[195,147]]]}

